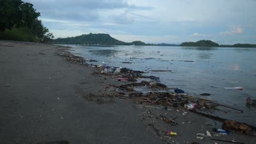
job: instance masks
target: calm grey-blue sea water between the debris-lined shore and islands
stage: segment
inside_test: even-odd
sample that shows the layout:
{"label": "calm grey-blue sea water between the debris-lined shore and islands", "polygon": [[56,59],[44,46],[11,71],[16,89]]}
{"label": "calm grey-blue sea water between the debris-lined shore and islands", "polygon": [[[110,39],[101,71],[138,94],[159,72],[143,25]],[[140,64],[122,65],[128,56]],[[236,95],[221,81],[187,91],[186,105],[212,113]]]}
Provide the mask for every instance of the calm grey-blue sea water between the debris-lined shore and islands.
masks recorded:
{"label": "calm grey-blue sea water between the debris-lined shore and islands", "polygon": [[[228,113],[214,112],[216,115],[256,125],[256,109],[246,106],[246,98],[256,100],[256,48],[71,46],[75,55],[98,61],[88,62],[92,64],[100,65],[104,61],[109,66],[133,70],[172,70],[146,75],[158,76],[161,83],[191,95],[203,97],[201,93],[210,93],[203,98],[244,111],[225,109]],[[224,87],[243,87],[243,90]]]}

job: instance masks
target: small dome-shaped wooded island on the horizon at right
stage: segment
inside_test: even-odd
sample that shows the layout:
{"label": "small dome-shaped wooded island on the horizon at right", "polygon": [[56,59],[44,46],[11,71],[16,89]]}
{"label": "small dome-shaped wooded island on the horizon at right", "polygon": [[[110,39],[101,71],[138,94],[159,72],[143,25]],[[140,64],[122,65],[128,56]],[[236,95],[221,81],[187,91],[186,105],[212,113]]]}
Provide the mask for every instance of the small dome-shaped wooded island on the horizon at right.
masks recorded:
{"label": "small dome-shaped wooded island on the horizon at right", "polygon": [[181,46],[206,46],[206,47],[216,47],[219,46],[219,44],[214,43],[211,40],[199,40],[196,42],[185,42],[182,43]]}

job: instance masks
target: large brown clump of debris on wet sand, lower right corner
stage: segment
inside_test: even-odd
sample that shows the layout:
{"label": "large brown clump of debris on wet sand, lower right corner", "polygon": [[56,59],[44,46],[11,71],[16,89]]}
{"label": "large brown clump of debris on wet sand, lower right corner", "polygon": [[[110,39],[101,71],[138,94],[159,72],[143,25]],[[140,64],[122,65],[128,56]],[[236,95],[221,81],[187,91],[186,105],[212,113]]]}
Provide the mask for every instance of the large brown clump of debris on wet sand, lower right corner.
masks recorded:
{"label": "large brown clump of debris on wet sand, lower right corner", "polygon": [[242,133],[245,133],[247,135],[252,135],[252,128],[249,127],[248,125],[244,124],[244,123],[239,123],[239,122],[235,122],[235,121],[225,121],[222,124],[222,128],[225,130],[236,130],[236,131],[240,131]]}

